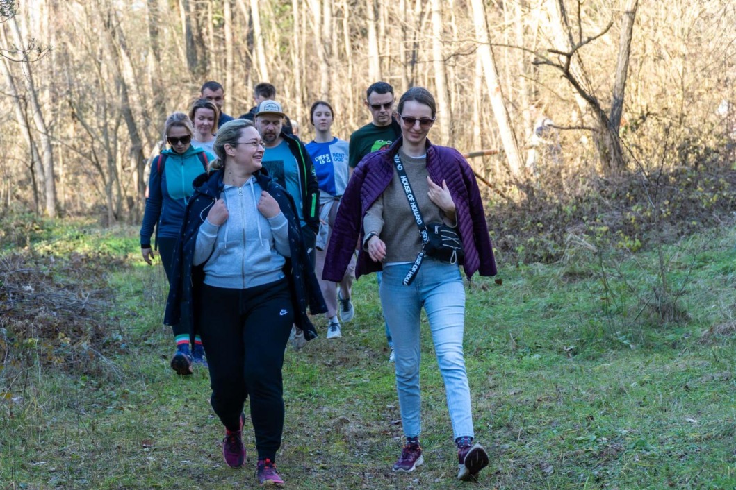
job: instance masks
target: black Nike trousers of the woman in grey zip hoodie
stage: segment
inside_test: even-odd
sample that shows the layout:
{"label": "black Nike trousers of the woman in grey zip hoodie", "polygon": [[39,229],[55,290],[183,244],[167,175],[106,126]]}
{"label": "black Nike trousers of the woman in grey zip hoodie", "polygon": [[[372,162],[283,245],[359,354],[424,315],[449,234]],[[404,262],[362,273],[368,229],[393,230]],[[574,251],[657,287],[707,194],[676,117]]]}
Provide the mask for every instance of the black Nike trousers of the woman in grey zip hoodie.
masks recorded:
{"label": "black Nike trousers of the woman in grey zip hoodie", "polygon": [[197,314],[210,365],[210,402],[222,424],[240,428],[250,394],[250,419],[258,458],[275,461],[283,433],[281,368],[294,323],[285,279],[248,289],[203,284]]}

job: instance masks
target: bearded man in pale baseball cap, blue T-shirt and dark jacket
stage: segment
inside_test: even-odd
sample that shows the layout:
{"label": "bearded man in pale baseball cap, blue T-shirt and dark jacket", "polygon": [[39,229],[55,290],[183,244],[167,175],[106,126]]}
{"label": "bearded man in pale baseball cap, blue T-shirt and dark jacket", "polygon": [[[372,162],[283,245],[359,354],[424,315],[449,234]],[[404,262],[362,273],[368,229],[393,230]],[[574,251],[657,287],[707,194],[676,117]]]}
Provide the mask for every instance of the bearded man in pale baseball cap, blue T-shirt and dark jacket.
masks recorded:
{"label": "bearded man in pale baseball cap, blue T-shirt and dark jacket", "polygon": [[261,133],[262,165],[272,179],[289,192],[297,205],[302,234],[314,267],[314,243],[319,230],[319,184],[304,144],[283,131],[285,114],[281,104],[267,100],[258,104],[255,128]]}

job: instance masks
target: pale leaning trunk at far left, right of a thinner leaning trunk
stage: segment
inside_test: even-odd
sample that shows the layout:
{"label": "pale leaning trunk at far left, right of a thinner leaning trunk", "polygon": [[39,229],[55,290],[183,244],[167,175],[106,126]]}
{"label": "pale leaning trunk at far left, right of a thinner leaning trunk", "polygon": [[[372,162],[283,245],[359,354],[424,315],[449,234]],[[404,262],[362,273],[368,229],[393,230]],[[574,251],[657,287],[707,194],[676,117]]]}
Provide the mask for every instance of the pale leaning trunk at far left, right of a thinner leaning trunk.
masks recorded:
{"label": "pale leaning trunk at far left, right of a thinner leaning trunk", "polygon": [[[15,20],[15,17],[8,19],[7,23],[10,27],[10,31],[13,32],[16,46],[24,46],[21,29],[18,27],[18,22]],[[33,82],[33,73],[31,71],[31,65],[28,61],[27,54],[23,55],[21,68],[24,72],[23,81],[26,85],[26,97],[30,104],[36,131],[38,131],[38,139],[40,141],[41,154],[43,157],[43,187],[45,190],[44,197],[46,198],[46,216],[56,217],[57,199],[56,182],[54,181],[54,151],[52,148],[49,128],[46,126],[46,120],[43,119],[43,112],[41,112],[41,107],[38,103],[38,93],[36,93],[36,87]]]}

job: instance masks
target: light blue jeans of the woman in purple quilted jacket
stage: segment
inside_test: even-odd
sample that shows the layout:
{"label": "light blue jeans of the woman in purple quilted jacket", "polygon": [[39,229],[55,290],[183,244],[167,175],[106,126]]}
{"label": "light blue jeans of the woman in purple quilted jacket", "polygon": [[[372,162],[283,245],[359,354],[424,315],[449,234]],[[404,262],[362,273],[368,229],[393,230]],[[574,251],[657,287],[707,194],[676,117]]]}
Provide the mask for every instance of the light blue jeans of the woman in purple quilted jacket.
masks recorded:
{"label": "light blue jeans of the woman in purple quilted jacket", "polygon": [[445,380],[447,408],[454,438],[473,437],[470,388],[465,372],[462,338],[465,320],[465,289],[457,265],[425,257],[410,286],[402,281],[411,264],[383,267],[379,289],[383,317],[389,324],[396,353],[396,389],[401,422],[407,437],[422,432],[420,366],[420,314],[429,320],[439,372]]}

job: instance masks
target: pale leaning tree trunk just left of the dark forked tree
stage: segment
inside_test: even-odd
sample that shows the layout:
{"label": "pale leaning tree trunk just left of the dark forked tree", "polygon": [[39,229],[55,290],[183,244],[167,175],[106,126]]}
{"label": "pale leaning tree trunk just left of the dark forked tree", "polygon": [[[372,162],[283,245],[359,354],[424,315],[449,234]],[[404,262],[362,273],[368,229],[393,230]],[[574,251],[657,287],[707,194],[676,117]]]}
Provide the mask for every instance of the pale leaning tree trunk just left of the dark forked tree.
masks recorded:
{"label": "pale leaning tree trunk just left of the dark forked tree", "polygon": [[475,36],[478,41],[478,56],[481,57],[488,95],[491,98],[491,107],[495,116],[498,131],[503,143],[503,151],[506,153],[506,161],[514,178],[521,177],[522,162],[519,154],[519,145],[516,134],[509,120],[509,112],[506,111],[506,103],[503,101],[503,93],[498,84],[498,71],[496,71],[493,52],[488,35],[488,24],[486,23],[486,10],[483,0],[471,0],[473,4],[473,21],[475,23]]}

